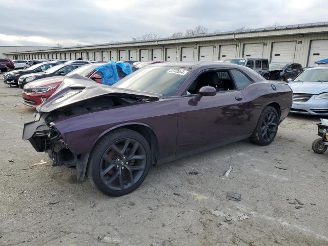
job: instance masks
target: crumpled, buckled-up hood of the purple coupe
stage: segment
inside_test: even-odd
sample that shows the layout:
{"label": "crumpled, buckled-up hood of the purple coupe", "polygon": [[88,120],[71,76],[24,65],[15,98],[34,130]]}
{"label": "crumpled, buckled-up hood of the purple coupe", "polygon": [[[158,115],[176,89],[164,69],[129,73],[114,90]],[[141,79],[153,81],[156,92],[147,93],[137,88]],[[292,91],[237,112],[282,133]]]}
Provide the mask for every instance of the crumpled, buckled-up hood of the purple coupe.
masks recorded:
{"label": "crumpled, buckled-up hood of the purple coupe", "polygon": [[135,95],[141,98],[157,99],[162,96],[161,94],[151,92],[106,86],[95,83],[84,76],[73,74],[70,77],[65,76],[63,83],[61,83],[55,93],[45,103],[36,107],[36,110],[38,112],[51,112],[79,101],[109,94],[116,96]]}

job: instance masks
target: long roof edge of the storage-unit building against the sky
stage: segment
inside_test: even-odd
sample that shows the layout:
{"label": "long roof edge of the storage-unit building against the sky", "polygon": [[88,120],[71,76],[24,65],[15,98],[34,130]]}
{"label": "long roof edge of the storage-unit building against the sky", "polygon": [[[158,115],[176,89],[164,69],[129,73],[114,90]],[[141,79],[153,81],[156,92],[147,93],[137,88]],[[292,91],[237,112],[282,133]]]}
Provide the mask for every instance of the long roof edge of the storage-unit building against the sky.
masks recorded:
{"label": "long roof edge of the storage-unit building against the sky", "polygon": [[[113,46],[113,45],[127,45],[127,44],[131,44],[132,46],[134,46],[136,44],[142,45],[145,43],[154,43],[154,44],[150,44],[150,45],[158,45],[158,42],[168,41],[168,40],[184,40],[185,39],[187,41],[190,38],[198,38],[198,37],[213,37],[213,36],[235,35],[235,34],[244,34],[244,33],[253,33],[253,32],[311,28],[311,27],[328,27],[328,22],[317,22],[317,23],[295,24],[295,25],[286,25],[286,26],[277,26],[277,27],[233,30],[233,31],[227,31],[227,32],[207,33],[207,34],[198,34],[198,35],[191,35],[191,36],[156,38],[156,39],[152,39],[152,40],[122,41],[122,42],[113,42],[113,43],[104,43],[104,44],[70,46],[70,47],[62,47],[62,48],[53,47],[53,48],[58,48],[58,51],[60,51],[60,50],[65,51],[65,50],[69,50],[69,49],[82,49],[82,48],[97,47],[97,46]],[[20,52],[8,52],[8,53],[3,53],[3,54],[17,54],[17,53],[21,53],[21,52],[34,52],[34,51],[35,52],[37,52],[37,51],[45,52],[47,50],[28,50],[28,51],[20,51]]]}

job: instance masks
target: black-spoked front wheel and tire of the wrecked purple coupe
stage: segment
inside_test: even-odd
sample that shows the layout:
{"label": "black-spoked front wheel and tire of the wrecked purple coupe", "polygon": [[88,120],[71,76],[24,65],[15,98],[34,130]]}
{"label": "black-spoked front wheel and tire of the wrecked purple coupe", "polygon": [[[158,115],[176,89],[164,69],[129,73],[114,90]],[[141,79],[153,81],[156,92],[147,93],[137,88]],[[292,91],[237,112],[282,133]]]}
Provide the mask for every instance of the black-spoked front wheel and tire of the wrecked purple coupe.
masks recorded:
{"label": "black-spoked front wheel and tire of the wrecked purple coupe", "polygon": [[114,130],[94,146],[88,161],[92,185],[110,196],[121,196],[137,189],[151,167],[147,140],[130,129]]}

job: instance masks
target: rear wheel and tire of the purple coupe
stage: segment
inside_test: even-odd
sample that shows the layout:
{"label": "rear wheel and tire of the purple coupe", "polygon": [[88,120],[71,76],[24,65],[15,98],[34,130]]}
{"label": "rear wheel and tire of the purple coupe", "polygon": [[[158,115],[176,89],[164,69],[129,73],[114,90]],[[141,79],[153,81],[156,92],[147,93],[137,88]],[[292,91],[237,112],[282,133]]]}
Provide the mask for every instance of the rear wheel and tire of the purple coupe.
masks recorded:
{"label": "rear wheel and tire of the purple coupe", "polygon": [[265,107],[258,119],[256,128],[250,137],[253,144],[260,146],[270,145],[278,131],[279,116],[273,107]]}

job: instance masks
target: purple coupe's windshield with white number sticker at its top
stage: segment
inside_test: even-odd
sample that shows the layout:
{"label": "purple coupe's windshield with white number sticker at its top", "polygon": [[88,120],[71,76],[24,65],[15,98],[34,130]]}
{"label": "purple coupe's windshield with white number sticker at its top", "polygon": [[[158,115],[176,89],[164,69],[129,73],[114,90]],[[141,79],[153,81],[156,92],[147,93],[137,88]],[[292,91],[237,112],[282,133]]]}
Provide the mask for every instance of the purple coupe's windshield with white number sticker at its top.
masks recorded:
{"label": "purple coupe's windshield with white number sticker at its top", "polygon": [[188,68],[150,66],[121,79],[113,87],[172,96],[189,74]]}

